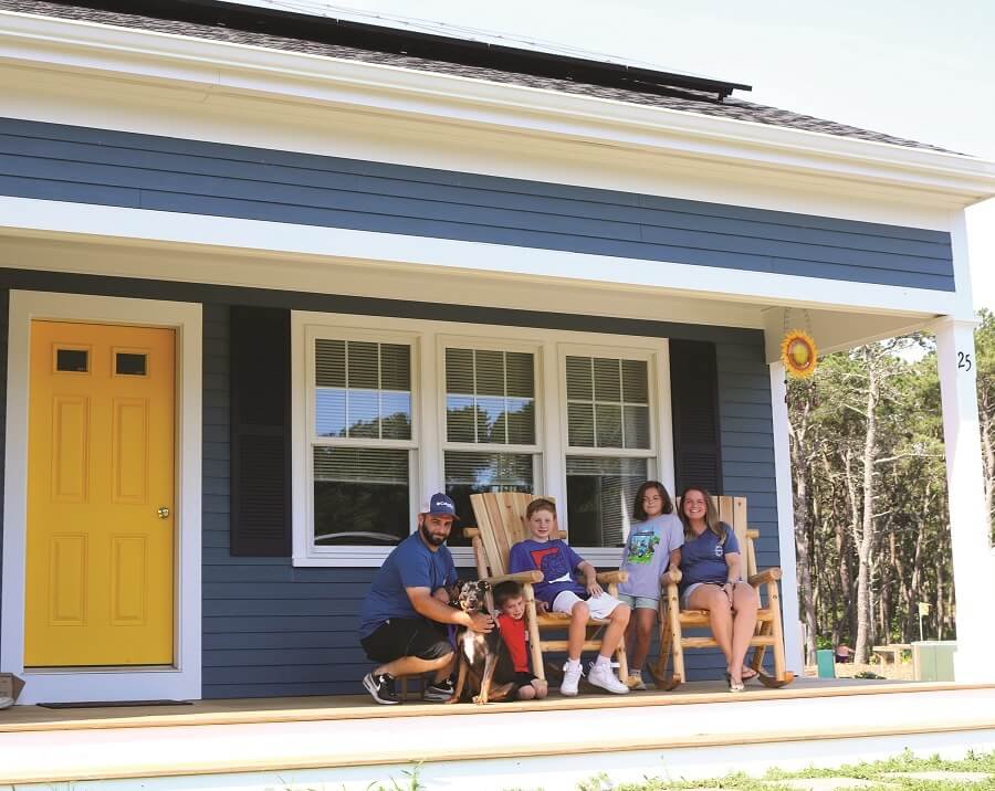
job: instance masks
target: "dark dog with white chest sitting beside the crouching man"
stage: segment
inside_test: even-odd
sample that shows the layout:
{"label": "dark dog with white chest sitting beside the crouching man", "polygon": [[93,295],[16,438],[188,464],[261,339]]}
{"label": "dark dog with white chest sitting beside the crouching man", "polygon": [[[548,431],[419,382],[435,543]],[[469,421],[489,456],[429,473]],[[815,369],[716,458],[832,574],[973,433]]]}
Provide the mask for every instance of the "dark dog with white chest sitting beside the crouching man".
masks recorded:
{"label": "dark dog with white chest sitting beside the crouching man", "polygon": [[[484,602],[490,589],[491,586],[486,582],[458,582],[449,589],[449,603],[471,615],[478,612],[486,614]],[[471,693],[476,690],[473,703],[480,706],[507,698],[514,684],[493,684],[495,675],[499,678],[509,677],[513,671],[511,654],[501,639],[496,623],[486,634],[467,626],[457,626],[455,653],[459,672],[452,697],[447,703],[459,702],[468,682]]]}

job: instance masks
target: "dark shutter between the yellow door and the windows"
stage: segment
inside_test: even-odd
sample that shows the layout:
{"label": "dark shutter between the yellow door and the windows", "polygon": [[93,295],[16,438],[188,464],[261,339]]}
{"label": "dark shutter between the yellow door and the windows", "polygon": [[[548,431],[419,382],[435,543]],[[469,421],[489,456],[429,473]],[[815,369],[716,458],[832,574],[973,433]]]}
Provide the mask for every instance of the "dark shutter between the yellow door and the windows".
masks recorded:
{"label": "dark shutter between the yellow door and the windows", "polygon": [[291,553],[290,310],[231,308],[231,553]]}

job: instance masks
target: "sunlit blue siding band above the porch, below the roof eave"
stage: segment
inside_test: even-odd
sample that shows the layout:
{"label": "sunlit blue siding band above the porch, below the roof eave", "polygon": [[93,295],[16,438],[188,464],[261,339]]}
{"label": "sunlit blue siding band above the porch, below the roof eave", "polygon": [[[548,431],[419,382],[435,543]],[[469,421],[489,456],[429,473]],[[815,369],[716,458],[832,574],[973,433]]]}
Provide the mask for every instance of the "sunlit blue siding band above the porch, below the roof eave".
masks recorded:
{"label": "sunlit blue siding band above the porch, below the roof eave", "polygon": [[954,289],[950,234],[0,119],[0,194]]}

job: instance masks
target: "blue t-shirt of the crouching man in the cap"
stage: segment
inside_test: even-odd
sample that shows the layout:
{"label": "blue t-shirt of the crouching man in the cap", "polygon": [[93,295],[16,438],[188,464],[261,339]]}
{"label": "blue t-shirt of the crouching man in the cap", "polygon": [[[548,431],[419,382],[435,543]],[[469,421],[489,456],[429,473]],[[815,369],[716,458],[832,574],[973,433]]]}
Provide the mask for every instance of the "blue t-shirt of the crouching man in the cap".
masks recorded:
{"label": "blue t-shirt of the crouching man in the cap", "polygon": [[377,571],[359,611],[359,636],[373,634],[391,618],[421,618],[405,588],[428,588],[434,592],[455,581],[449,547],[433,552],[418,532],[412,532],[394,548]]}

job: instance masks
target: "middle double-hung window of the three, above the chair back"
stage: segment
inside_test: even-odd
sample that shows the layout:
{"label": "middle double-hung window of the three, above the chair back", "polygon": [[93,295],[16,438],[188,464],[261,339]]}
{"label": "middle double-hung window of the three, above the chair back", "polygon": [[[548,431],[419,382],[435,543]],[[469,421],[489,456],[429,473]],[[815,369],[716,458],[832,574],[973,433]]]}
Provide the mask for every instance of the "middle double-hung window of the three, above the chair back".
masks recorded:
{"label": "middle double-hung window of the three, above the chair back", "polygon": [[[535,350],[443,341],[442,365],[443,478],[457,513],[472,518],[471,494],[536,491]],[[450,546],[468,544],[460,530],[450,536]]]}

